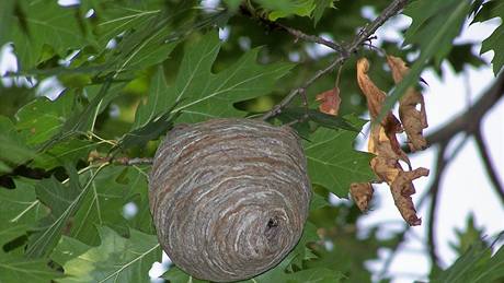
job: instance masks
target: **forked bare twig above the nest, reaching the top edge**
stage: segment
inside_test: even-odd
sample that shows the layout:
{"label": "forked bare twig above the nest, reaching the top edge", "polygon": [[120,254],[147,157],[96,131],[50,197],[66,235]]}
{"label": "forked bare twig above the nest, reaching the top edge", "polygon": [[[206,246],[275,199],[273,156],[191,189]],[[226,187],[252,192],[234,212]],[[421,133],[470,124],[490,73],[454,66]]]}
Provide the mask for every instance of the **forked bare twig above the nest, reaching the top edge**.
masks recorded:
{"label": "forked bare twig above the nest, reaching the top edge", "polygon": [[324,39],[319,36],[314,35],[307,35],[301,31],[298,31],[293,27],[285,26],[283,24],[276,23],[276,22],[271,22],[267,19],[257,16],[256,14],[253,13],[248,7],[243,5],[242,7],[242,13],[251,16],[252,19],[255,19],[277,30],[283,30],[286,31],[287,33],[291,34],[293,36],[296,37],[296,39],[300,38],[306,42],[310,43],[317,43],[321,44],[324,46],[328,46],[329,48],[335,50],[339,56],[337,58],[332,61],[328,67],[325,67],[322,70],[317,71],[310,79],[308,79],[300,87],[293,90],[279,104],[275,105],[270,111],[265,113],[261,118],[263,120],[267,120],[272,117],[275,117],[282,113],[282,110],[289,105],[293,99],[302,93],[306,93],[308,86],[310,86],[314,81],[323,76],[324,74],[331,72],[336,68],[337,66],[343,64],[346,59],[351,57],[352,54],[356,52],[360,46],[363,46],[366,42],[370,39],[370,36],[380,27],[390,17],[394,16],[396,14],[399,13],[399,11],[404,8],[404,5],[408,3],[408,0],[394,0],[392,3],[390,3],[382,12],[380,15],[378,15],[375,21],[366,25],[350,43],[348,45],[341,45],[337,43],[334,43],[332,40]]}

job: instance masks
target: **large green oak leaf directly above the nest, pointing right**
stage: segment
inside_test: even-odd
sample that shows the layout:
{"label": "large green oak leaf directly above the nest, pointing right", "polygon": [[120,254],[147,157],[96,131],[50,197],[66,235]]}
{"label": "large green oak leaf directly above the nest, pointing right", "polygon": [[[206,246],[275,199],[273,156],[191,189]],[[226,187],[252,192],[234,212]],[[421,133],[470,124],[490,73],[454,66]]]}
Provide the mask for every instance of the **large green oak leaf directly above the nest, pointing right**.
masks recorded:
{"label": "large green oak leaf directly above the nest, pointing right", "polygon": [[[211,67],[220,46],[221,42],[217,33],[211,32],[188,47],[174,85],[153,89],[163,97],[150,96],[157,99],[157,103],[148,102],[147,107],[140,108],[134,128],[145,123],[149,116],[159,117],[160,113],[175,104],[173,113],[181,113],[180,121],[196,122],[208,118],[239,116],[242,113],[233,107],[233,103],[270,93],[275,82],[294,66],[291,63],[257,64],[259,49],[253,49],[245,52],[230,68],[214,74]],[[156,78],[154,82],[165,86],[162,78]]]}

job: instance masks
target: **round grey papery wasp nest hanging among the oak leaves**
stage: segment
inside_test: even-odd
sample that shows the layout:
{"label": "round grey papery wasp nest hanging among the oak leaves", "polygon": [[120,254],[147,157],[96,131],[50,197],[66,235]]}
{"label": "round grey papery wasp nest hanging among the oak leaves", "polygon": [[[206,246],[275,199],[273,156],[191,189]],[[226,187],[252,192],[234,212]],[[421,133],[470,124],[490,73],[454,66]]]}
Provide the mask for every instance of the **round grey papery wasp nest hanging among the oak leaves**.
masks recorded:
{"label": "round grey papery wasp nest hanging among the oak leaves", "polygon": [[161,246],[182,270],[218,282],[282,261],[301,236],[310,197],[296,133],[250,119],[175,127],[150,176]]}

